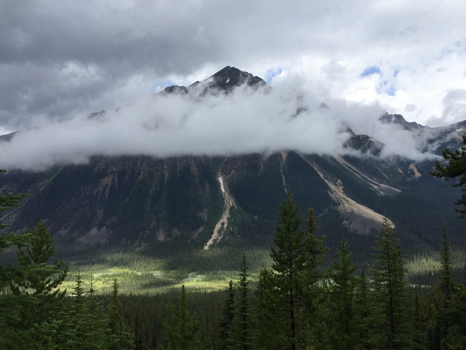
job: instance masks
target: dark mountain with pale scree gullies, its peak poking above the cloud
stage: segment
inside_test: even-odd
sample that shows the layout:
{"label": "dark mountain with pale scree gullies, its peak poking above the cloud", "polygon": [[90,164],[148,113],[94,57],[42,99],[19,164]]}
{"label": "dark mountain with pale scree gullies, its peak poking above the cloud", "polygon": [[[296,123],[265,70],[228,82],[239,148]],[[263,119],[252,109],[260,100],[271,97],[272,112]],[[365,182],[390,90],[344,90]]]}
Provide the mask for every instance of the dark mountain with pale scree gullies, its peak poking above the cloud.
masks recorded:
{"label": "dark mountain with pale scree gullies, its peak poking above the cloud", "polygon": [[[189,94],[192,88],[229,93],[243,84],[269,88],[259,77],[226,67],[203,82],[171,86],[161,94]],[[466,124],[429,128],[390,114],[380,120],[399,125],[406,137],[418,138],[437,153],[459,147]],[[327,234],[329,245],[337,243],[342,232],[351,232],[355,250],[358,245],[370,248],[385,212],[406,235],[407,252],[436,248],[444,223],[452,244],[464,244],[462,223],[453,211],[459,190],[428,174],[434,161],[384,159],[379,156],[383,143],[350,128],[348,132],[345,147],[359,151],[358,156],[293,150],[166,159],[95,156],[86,165],[10,170],[0,174],[1,189],[31,196],[3,221],[19,231],[44,219],[56,239],[69,244],[110,242],[141,248],[176,239],[194,249],[238,242],[267,246],[278,205],[290,188],[303,214],[314,208],[319,232]],[[13,137],[5,135],[2,141]]]}

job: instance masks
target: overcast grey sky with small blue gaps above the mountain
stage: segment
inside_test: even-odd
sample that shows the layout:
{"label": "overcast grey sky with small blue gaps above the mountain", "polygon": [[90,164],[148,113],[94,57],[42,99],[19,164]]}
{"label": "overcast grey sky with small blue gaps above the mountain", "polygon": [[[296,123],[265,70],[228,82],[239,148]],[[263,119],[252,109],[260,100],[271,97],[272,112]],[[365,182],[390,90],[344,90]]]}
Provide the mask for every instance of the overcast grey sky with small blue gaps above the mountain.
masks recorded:
{"label": "overcast grey sky with small blue gaps above the mountain", "polygon": [[0,133],[111,111],[227,65],[446,125],[466,119],[465,53],[464,0],[3,0]]}

